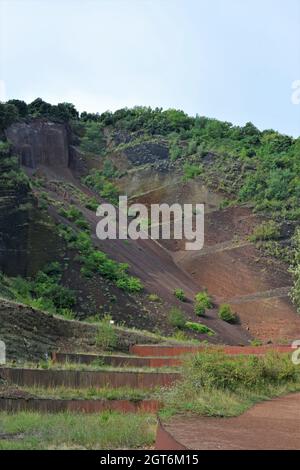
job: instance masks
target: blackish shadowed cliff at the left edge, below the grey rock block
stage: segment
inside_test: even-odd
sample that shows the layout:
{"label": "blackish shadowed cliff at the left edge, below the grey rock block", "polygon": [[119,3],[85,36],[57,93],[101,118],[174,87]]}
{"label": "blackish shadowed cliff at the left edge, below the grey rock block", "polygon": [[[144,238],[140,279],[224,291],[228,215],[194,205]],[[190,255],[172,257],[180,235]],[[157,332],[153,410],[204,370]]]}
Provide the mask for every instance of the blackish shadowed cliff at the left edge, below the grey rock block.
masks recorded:
{"label": "blackish shadowed cliff at the left edge, below the grey rock block", "polygon": [[35,274],[57,251],[57,238],[46,214],[37,208],[22,173],[9,181],[10,151],[0,152],[0,271],[11,275]]}

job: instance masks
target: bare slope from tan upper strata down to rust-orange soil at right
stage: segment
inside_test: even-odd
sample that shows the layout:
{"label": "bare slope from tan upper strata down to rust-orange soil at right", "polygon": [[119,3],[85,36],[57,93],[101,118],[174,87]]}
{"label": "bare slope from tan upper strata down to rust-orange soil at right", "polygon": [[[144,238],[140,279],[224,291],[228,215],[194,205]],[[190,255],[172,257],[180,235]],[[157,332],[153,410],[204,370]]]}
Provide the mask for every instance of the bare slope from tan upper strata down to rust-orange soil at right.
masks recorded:
{"label": "bare slope from tan upper strata down to rust-orange soil at right", "polygon": [[175,176],[141,169],[125,181],[129,193],[133,188],[135,202],[205,204],[204,249],[184,251],[185,240],[161,242],[177,267],[217,303],[229,303],[251,336],[274,343],[298,338],[300,317],[288,296],[292,285],[288,266],[249,241],[262,217],[246,206],[220,209],[221,194],[201,181],[183,183]]}

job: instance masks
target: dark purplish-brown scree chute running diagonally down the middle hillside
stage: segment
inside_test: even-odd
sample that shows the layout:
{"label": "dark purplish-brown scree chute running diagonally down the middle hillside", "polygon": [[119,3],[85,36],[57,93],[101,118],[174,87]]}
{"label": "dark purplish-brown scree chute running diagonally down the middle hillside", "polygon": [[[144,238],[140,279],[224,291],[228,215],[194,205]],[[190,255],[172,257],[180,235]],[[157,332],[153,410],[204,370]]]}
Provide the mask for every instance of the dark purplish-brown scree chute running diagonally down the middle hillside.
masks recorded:
{"label": "dark purplish-brown scree chute running diagonally down the middle hillside", "polygon": [[[53,169],[50,173],[45,168],[44,175],[47,175],[49,179],[53,178]],[[61,173],[59,178],[61,179]],[[69,170],[65,170],[64,181],[70,181],[88,196],[95,196],[88,188],[81,186]],[[53,191],[49,191],[49,194],[56,201],[72,202],[72,204],[77,205],[91,225],[91,233],[94,234],[92,238],[95,246],[116,261],[128,263],[130,273],[141,279],[147,292],[156,293],[170,306],[177,304],[186,312],[188,318],[193,321],[197,320],[193,311],[193,299],[195,294],[201,290],[201,286],[193,280],[188,272],[177,266],[171,253],[166,248],[151,239],[136,241],[99,240],[96,236],[96,225],[99,222],[99,217],[96,217],[94,212],[78,204],[74,199],[66,201],[63,190],[60,192],[57,189],[53,189]],[[51,208],[51,213],[55,216],[55,207]],[[179,302],[174,297],[174,290],[176,288],[181,288],[185,291],[187,302]],[[163,314],[165,315],[164,321],[167,323],[168,310],[163,312]],[[207,317],[201,319],[201,322],[207,324],[209,328],[216,332],[214,337],[209,338],[210,341],[215,343],[247,344],[251,338],[249,333],[240,325],[230,325],[220,321],[215,311],[210,311]],[[207,339],[207,335],[199,335],[199,339]]]}

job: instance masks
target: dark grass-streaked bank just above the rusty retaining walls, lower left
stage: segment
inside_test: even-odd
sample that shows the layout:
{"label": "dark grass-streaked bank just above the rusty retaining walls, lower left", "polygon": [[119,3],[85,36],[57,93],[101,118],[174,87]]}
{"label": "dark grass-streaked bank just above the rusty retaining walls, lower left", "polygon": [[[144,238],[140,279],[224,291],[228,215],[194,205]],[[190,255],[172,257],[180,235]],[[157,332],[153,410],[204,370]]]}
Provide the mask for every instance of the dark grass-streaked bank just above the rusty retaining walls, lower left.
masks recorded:
{"label": "dark grass-streaked bank just above the rusty retaining walls, lower left", "polygon": [[[7,359],[40,360],[52,351],[100,352],[97,327],[68,321],[21,304],[0,299],[0,339],[5,342]],[[127,352],[138,342],[155,342],[139,332],[118,330],[116,349]]]}

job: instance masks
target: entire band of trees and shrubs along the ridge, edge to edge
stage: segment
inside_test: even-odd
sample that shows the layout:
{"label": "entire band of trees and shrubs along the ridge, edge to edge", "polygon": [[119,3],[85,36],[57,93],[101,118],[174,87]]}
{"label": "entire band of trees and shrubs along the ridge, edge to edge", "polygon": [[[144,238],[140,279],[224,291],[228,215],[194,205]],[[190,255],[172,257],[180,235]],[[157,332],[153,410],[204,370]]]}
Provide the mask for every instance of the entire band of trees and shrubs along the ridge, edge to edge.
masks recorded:
{"label": "entire band of trees and shrubs along the ridge, edge to edge", "polygon": [[[190,117],[175,109],[139,106],[114,113],[83,112],[79,117],[71,103],[51,105],[41,98],[28,105],[21,100],[0,103],[2,130],[25,116],[80,124],[82,149],[96,154],[105,151],[104,127],[133,133],[133,136],[136,133],[137,139],[162,136],[169,143],[170,158],[182,161],[186,179],[200,174],[205,178],[203,158],[218,155],[213,166],[219,170],[221,188],[233,193],[241,202],[253,203],[256,210],[291,220],[300,219],[300,138],[293,139],[272,129],[260,131],[251,122],[233,126],[230,122],[203,116]],[[231,175],[230,184],[226,185],[227,167],[235,164],[239,165],[239,171]]]}

